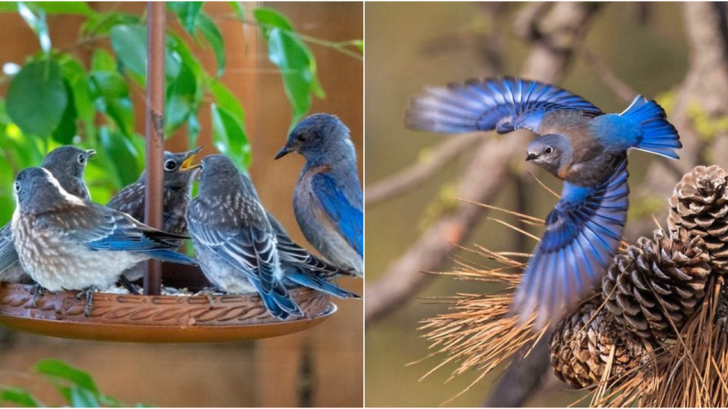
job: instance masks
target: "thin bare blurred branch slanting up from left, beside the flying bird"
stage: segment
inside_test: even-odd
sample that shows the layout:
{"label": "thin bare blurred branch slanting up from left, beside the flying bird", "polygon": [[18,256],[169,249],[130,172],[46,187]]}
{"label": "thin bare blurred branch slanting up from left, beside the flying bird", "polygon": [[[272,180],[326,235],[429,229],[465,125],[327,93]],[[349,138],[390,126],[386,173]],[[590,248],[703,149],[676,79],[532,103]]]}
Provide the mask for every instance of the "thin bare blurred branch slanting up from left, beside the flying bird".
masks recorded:
{"label": "thin bare blurred branch slanting up from left, beside the flying bird", "polygon": [[416,189],[479,140],[479,134],[446,138],[440,145],[430,148],[432,154],[415,165],[399,171],[396,175],[388,176],[373,186],[367,186],[365,204],[368,207],[379,205]]}

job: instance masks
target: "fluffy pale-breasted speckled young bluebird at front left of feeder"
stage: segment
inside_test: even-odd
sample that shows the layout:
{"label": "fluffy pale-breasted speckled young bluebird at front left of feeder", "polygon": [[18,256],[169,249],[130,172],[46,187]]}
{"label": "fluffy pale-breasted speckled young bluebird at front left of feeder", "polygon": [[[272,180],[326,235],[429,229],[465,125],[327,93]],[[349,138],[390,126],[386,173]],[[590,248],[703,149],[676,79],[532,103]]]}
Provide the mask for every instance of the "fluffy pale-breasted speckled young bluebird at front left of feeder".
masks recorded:
{"label": "fluffy pale-breasted speckled young bluebird at front left of feeder", "polygon": [[43,168],[20,172],[15,201],[15,250],[27,274],[49,291],[106,288],[126,269],[150,258],[197,264],[174,251],[177,244],[171,241],[182,236],[70,195]]}

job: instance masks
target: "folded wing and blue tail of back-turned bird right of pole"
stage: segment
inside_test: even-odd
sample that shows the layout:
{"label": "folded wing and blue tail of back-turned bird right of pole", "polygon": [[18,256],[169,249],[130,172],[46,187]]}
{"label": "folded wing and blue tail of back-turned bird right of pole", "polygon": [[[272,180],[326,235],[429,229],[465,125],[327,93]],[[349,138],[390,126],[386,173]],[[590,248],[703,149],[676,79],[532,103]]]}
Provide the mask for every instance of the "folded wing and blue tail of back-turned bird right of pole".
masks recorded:
{"label": "folded wing and blue tail of back-turned bird right of pole", "polygon": [[197,244],[204,245],[245,274],[258,290],[270,314],[281,319],[288,318],[290,314],[303,315],[275,276],[279,257],[273,234],[255,226],[221,230],[199,222],[196,217],[188,217],[187,226]]}

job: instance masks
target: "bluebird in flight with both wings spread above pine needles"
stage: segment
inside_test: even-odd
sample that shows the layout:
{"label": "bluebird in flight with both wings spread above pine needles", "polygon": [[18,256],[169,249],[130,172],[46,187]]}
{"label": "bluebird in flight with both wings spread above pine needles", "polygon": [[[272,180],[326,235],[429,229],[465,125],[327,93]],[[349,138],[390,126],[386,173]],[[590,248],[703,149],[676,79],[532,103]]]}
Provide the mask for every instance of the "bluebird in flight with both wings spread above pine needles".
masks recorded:
{"label": "bluebird in flight with both wings spread above pine needles", "polygon": [[627,218],[627,151],[678,159],[682,147],[662,107],[642,95],[621,114],[605,114],[561,88],[510,77],[428,88],[412,99],[405,123],[449,134],[525,128],[540,135],[526,160],[564,184],[511,306],[521,322],[535,310],[537,329],[589,294],[617,252]]}

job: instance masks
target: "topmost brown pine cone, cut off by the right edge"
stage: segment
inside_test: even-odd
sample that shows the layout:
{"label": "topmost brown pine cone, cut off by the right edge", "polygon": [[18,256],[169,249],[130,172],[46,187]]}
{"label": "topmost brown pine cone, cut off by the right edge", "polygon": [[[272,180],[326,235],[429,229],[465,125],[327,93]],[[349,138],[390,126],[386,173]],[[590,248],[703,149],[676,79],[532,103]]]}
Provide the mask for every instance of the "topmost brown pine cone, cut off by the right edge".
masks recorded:
{"label": "topmost brown pine cone, cut off by the right edge", "polygon": [[728,272],[728,190],[723,168],[696,166],[682,176],[670,197],[667,224],[674,232],[683,227],[703,237],[713,271]]}

